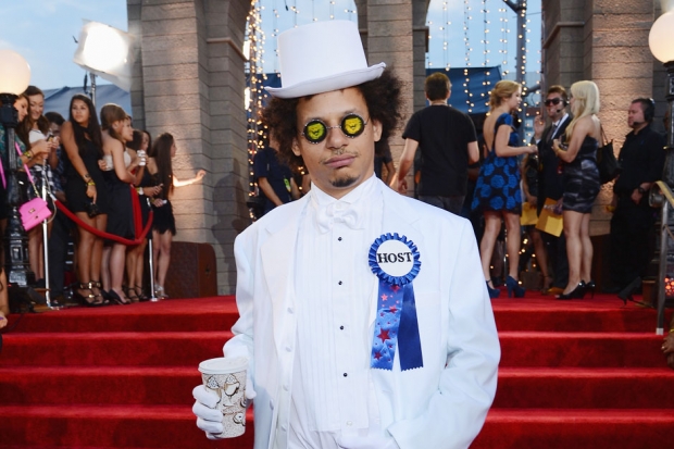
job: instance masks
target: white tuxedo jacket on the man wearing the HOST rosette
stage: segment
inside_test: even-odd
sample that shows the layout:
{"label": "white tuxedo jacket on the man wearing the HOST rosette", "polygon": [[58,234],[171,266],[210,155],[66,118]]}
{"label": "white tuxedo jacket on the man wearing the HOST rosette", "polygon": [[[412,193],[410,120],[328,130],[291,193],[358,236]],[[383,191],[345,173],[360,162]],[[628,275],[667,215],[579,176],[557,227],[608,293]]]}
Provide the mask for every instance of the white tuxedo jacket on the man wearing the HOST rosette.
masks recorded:
{"label": "white tuxedo jacket on the man wearing the HOST rosette", "polygon": [[[401,372],[396,360],[392,371],[372,370],[380,425],[401,449],[467,448],[494,400],[500,359],[473,228],[385,186],[383,196],[382,234],[407,236],[421,254],[413,285],[424,365]],[[308,197],[274,209],[234,245],[240,317],[224,353],[249,359],[258,395],[255,449],[271,449],[277,428],[287,425],[278,422],[277,404],[282,395],[290,395],[282,385],[292,385],[297,319],[296,298],[288,292]],[[376,291],[374,274],[372,282],[363,288]]]}

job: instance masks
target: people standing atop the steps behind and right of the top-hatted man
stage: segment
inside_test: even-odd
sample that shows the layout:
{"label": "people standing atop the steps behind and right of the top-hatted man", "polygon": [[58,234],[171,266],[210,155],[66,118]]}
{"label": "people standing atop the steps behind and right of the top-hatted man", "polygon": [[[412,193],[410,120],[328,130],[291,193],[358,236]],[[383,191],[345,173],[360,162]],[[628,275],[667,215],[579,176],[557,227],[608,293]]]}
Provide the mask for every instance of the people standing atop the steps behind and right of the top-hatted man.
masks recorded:
{"label": "people standing atop the steps behind and right of the top-hatted man", "polygon": [[[475,234],[491,298],[501,294],[497,288],[500,285],[507,287],[509,297],[525,295],[520,254],[526,237],[533,242],[544,294],[558,299],[594,295],[589,224],[602,184],[597,153],[606,136],[598,117],[597,85],[577,82],[571,86],[571,95],[562,86],[551,86],[544,113],[534,122],[534,138],[526,146],[520,144],[517,130],[515,112],[522,90],[516,83],[501,80],[491,89],[490,111],[479,139],[472,119],[448,105],[451,83],[445,74],[428,76],[424,89],[428,107],[414,113],[404,128],[404,149],[397,171],[391,164],[388,136],[377,142],[377,177],[384,175],[392,189],[407,194],[407,175],[414,170],[415,194],[421,201],[466,217],[479,216],[474,223]],[[639,283],[652,251],[657,211],[648,205],[646,194],[660,177],[664,160],[664,138],[650,126],[653,115],[651,99],[637,98],[629,105],[627,124],[633,130],[620,152],[622,172],[607,208],[613,217],[611,279],[603,285],[606,291],[620,292]],[[290,169],[276,160],[276,146],[272,142],[254,161],[257,180],[269,198],[264,213],[300,196]],[[537,216],[544,209],[562,216],[563,232],[521,226],[523,203],[535,209]],[[504,240],[506,269],[495,263],[498,240]]]}

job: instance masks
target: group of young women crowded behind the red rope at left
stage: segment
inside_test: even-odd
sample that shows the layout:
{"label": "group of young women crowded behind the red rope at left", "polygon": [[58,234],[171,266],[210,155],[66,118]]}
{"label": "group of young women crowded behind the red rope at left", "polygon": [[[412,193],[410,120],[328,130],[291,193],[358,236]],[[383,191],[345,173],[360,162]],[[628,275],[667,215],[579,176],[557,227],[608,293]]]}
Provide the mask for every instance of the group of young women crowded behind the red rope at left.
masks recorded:
{"label": "group of young women crowded behind the red rope at left", "polygon": [[[45,197],[52,212],[46,223],[48,264],[42,226],[27,232],[34,286],[46,287],[49,275],[52,305],[75,300],[100,307],[165,298],[171,242],[176,234],[171,196],[175,187],[196,183],[205,172],[179,180],[172,167],[174,137],[164,133],[152,141],[147,130],[133,128],[132,116],[117,104],[103,105],[99,120],[91,99],[75,95],[64,119],[57,112],[45,113],[45,95],[29,86],[14,108],[20,203]],[[14,148],[7,148],[4,137],[5,129],[0,126],[0,151],[8,161],[8,151]],[[8,173],[4,162],[3,176]],[[2,183],[3,204],[7,195]],[[2,233],[9,214],[9,207],[0,209]],[[153,254],[148,257],[154,260],[154,273],[146,276],[148,239],[153,241]],[[74,244],[74,285],[66,284],[64,273],[70,241]],[[45,272],[47,265],[49,273]],[[154,291],[145,280],[149,276],[153,276]],[[0,282],[7,291],[7,279]]]}

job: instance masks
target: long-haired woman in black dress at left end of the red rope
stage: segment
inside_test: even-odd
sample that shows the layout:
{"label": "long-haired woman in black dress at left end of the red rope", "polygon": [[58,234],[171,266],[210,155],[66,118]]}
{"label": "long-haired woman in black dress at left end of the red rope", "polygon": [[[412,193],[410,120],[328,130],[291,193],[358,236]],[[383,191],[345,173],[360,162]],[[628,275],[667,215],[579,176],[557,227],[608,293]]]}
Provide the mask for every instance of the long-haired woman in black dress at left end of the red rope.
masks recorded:
{"label": "long-haired woman in black dress at left end of the red rope", "polygon": [[[70,119],[61,128],[61,142],[67,164],[65,197],[67,208],[84,223],[104,232],[108,223],[108,196],[99,160],[103,158],[101,127],[93,103],[84,95],[71,99]],[[105,303],[100,291],[103,239],[78,226],[75,297],[86,305]]]}

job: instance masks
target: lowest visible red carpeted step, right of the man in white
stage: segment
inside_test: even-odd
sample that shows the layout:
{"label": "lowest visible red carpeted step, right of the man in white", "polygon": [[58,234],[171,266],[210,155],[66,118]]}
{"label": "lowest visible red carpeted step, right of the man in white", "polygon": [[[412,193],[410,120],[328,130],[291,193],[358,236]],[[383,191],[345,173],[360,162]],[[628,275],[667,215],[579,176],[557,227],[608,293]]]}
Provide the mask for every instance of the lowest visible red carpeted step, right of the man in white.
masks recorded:
{"label": "lowest visible red carpeted step, right of the man in white", "polygon": [[491,409],[471,449],[671,448],[673,428],[662,410]]}

